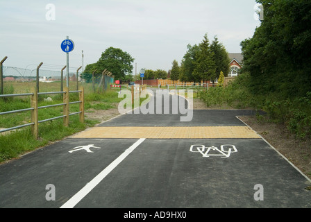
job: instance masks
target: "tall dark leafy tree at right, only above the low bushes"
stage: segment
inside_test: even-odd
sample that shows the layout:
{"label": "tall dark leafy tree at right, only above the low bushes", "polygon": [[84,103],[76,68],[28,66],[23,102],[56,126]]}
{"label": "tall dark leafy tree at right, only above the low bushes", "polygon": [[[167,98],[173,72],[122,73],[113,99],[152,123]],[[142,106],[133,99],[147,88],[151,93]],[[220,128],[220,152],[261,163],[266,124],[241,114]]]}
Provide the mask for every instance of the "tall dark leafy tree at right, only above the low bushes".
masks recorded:
{"label": "tall dark leafy tree at right, only above the low bushes", "polygon": [[241,43],[251,92],[304,96],[311,91],[311,2],[257,2],[264,19],[253,37]]}

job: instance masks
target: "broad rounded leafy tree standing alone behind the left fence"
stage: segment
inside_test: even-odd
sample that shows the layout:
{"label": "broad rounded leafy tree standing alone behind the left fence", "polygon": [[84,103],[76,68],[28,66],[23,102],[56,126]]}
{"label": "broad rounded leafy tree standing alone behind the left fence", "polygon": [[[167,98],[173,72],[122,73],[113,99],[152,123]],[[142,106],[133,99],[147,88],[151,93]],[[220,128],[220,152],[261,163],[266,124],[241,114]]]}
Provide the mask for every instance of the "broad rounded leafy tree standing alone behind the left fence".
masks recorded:
{"label": "broad rounded leafy tree standing alone behind the left fence", "polygon": [[115,79],[124,79],[127,73],[133,71],[132,62],[134,59],[129,53],[110,47],[101,54],[101,58],[96,62],[96,67],[99,73],[107,69],[115,76]]}

